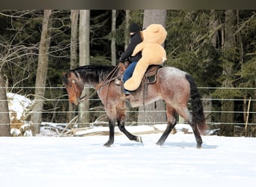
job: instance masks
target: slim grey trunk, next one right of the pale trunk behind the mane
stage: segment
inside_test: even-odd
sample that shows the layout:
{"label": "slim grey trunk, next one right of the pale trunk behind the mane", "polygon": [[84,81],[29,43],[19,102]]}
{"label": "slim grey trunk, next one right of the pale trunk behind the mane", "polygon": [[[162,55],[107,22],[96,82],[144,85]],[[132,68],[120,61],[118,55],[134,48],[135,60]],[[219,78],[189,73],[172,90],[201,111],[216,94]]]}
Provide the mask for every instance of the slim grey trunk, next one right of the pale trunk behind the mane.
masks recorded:
{"label": "slim grey trunk, next one right of the pale trunk behind the mane", "polygon": [[116,30],[116,17],[117,10],[112,10],[112,40],[111,40],[111,64],[115,66],[117,64],[116,59],[116,47],[115,47],[115,30]]}

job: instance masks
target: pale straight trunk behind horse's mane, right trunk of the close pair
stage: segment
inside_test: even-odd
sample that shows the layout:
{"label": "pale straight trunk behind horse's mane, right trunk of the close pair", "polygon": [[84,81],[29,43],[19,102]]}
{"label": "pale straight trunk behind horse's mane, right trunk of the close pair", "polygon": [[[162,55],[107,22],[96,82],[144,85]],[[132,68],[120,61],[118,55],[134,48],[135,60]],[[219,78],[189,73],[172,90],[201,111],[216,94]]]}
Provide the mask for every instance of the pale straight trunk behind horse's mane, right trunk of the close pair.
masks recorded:
{"label": "pale straight trunk behind horse's mane, right trunk of the close pair", "polygon": [[[90,64],[90,10],[79,10],[79,66]],[[90,94],[89,88],[84,88],[82,96]],[[90,102],[82,101],[79,104],[79,127],[88,126],[90,122]]]}

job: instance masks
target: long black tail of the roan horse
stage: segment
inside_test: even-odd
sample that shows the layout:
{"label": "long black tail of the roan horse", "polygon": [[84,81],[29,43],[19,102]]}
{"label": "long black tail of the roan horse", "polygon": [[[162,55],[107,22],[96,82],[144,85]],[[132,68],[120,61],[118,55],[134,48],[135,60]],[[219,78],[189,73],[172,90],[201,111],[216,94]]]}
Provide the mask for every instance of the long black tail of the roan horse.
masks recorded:
{"label": "long black tail of the roan horse", "polygon": [[204,133],[206,125],[201,96],[192,76],[190,74],[186,74],[186,79],[190,85],[190,96],[192,100],[192,123],[198,126],[198,129],[201,133]]}

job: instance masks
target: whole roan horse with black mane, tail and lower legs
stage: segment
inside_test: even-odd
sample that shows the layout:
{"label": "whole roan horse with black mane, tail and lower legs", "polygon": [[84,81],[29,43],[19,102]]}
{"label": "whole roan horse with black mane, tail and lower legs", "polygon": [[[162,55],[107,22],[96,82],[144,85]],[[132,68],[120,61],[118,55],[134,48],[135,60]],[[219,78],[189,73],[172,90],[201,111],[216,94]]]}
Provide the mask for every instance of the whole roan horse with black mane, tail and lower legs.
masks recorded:
{"label": "whole roan horse with black mane, tail and lower legs", "polygon": [[[70,102],[74,105],[79,105],[85,97],[81,96],[85,85],[94,88],[97,92],[109,118],[109,140],[104,146],[110,147],[114,143],[116,122],[129,140],[142,143],[141,136],[132,135],[125,128],[127,105],[124,88],[115,83],[115,78],[118,76],[115,68],[99,65],[77,67],[63,73],[62,82]],[[159,99],[164,100],[166,105],[167,126],[156,144],[165,143],[177,123],[175,116],[179,114],[192,127],[197,147],[200,148],[203,143],[201,133],[205,129],[205,118],[201,96],[192,76],[176,67],[162,67],[157,70],[156,82],[147,85],[147,92],[144,89],[141,84],[137,90],[132,91],[129,96],[132,107],[147,105]],[[188,108],[189,97],[191,97],[192,113]]]}

